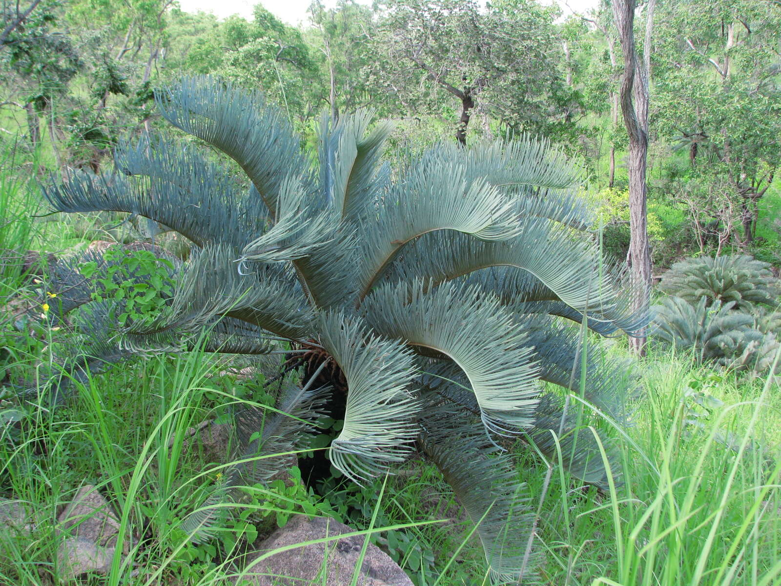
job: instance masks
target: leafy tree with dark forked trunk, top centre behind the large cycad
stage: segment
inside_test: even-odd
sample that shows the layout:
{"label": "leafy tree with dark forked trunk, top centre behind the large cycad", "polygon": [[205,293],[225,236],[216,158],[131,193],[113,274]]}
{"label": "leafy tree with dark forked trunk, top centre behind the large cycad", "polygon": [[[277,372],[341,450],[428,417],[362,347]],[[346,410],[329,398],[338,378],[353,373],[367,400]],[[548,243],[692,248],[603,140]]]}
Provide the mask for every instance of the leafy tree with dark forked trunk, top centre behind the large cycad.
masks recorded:
{"label": "leafy tree with dark forked trunk, top centre behind the large cycad", "polygon": [[[568,120],[556,9],[531,0],[392,0],[380,5],[377,93],[415,113],[473,109],[518,132],[558,135]],[[455,106],[455,108],[454,108]],[[486,118],[488,120],[488,118]]]}

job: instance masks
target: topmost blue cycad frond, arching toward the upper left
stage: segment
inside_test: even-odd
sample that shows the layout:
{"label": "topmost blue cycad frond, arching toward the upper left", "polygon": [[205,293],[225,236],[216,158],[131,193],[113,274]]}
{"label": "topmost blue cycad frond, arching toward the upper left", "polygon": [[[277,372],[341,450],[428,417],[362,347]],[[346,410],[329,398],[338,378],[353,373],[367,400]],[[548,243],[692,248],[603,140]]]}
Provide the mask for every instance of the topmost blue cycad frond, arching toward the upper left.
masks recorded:
{"label": "topmost blue cycad frond, arching toward the upper left", "polygon": [[166,120],[234,159],[269,210],[276,209],[282,179],[306,176],[298,136],[258,92],[212,77],[189,77],[155,98]]}

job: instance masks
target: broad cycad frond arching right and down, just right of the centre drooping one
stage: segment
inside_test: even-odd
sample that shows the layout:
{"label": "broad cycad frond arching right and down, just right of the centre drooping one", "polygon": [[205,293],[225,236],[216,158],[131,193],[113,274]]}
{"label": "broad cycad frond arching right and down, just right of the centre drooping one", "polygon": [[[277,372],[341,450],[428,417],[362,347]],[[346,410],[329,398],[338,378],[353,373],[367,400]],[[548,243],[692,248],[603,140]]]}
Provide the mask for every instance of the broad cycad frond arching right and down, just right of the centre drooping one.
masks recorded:
{"label": "broad cycad frond arching right and down, just right of the centre drooping one", "polygon": [[415,280],[376,288],[362,309],[380,334],[457,364],[487,431],[505,434],[531,422],[539,368],[512,314],[489,292],[452,282],[431,288]]}

